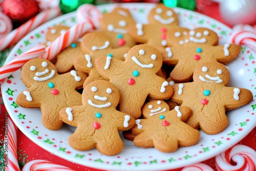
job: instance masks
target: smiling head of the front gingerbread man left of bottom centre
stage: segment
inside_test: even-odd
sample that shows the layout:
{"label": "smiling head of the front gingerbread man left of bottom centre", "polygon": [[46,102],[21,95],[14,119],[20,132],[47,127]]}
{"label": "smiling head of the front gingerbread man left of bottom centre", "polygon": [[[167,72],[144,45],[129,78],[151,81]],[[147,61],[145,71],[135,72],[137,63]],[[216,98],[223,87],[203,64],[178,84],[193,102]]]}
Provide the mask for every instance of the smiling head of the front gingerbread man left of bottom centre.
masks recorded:
{"label": "smiling head of the front gingerbread man left of bottom centre", "polygon": [[82,93],[82,102],[95,108],[116,108],[119,98],[118,89],[109,81],[94,81],[93,84],[88,84]]}

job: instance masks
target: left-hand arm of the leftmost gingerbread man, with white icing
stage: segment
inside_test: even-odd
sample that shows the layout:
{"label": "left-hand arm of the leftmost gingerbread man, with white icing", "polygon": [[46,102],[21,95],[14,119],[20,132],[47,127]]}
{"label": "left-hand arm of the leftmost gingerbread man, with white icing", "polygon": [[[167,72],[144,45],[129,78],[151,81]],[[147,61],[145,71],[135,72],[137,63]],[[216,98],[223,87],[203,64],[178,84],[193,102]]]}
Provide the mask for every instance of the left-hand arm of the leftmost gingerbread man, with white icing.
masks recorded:
{"label": "left-hand arm of the leftmost gingerbread man, with white icing", "polygon": [[40,108],[41,102],[36,98],[37,95],[36,90],[29,88],[18,94],[16,103],[24,108]]}

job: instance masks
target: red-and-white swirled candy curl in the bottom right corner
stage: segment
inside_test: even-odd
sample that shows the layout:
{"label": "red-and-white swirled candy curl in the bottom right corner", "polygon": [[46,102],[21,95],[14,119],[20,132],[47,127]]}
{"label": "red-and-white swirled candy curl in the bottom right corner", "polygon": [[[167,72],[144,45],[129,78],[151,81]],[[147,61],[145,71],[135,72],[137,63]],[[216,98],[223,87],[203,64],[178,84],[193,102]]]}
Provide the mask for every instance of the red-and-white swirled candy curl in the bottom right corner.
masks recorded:
{"label": "red-and-white swirled candy curl in the bottom right corner", "polygon": [[[231,161],[237,164],[232,165]],[[246,145],[235,145],[216,156],[215,165],[221,171],[256,170],[256,152]]]}

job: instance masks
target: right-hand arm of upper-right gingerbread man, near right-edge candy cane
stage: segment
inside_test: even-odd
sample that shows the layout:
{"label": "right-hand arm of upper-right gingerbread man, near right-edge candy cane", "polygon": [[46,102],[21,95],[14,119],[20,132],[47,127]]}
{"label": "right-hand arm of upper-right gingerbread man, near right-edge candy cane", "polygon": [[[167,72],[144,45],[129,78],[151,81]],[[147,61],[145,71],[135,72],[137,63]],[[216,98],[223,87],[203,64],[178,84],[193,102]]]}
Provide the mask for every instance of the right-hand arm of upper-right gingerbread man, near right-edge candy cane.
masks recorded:
{"label": "right-hand arm of upper-right gingerbread man, near right-edge candy cane", "polygon": [[240,53],[241,46],[235,44],[224,44],[223,46],[213,47],[218,62],[227,64],[236,59]]}

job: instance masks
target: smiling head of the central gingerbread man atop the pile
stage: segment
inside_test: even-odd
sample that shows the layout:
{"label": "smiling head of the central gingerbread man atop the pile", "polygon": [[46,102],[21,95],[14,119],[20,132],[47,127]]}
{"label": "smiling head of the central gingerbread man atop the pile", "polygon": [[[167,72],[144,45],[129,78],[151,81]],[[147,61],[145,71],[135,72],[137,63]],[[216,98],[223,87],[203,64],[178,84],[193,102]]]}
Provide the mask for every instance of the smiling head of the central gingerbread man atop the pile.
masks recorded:
{"label": "smiling head of the central gingerbread man atop the pile", "polygon": [[[162,54],[148,45],[137,45],[126,55],[125,61],[133,61],[132,65],[157,73],[162,67]],[[145,71],[146,72],[146,71]]]}

